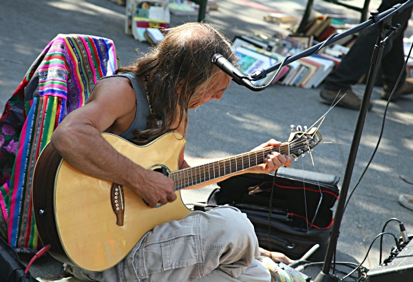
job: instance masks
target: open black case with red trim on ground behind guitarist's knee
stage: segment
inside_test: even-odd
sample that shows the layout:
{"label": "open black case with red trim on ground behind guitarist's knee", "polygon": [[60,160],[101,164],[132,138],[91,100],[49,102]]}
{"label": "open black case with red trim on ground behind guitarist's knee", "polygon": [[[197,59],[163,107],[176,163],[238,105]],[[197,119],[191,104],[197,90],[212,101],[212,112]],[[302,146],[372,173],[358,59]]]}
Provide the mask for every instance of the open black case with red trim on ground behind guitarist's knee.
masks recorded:
{"label": "open black case with red trim on ground behind guitarist's knee", "polygon": [[220,188],[211,193],[207,204],[229,204],[246,213],[262,248],[299,259],[318,243],[319,249],[309,260],[324,261],[332,226],[331,208],[339,195],[339,177],[287,168],[279,169],[274,184],[273,180],[274,174],[230,177],[218,184]]}

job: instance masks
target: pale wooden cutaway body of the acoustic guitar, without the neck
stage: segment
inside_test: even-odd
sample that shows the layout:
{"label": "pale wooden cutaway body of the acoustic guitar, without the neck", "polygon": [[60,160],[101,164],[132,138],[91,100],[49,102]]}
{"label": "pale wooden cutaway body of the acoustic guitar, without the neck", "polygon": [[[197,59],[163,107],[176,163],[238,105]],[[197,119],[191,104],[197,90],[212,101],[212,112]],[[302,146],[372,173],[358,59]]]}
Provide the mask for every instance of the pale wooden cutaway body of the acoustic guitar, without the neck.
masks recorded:
{"label": "pale wooden cutaway body of the acoustic guitar, without the neck", "polygon": [[[145,169],[169,172],[178,170],[186,142],[175,132],[142,147],[116,135],[102,135],[120,154]],[[44,245],[52,246],[53,257],[85,270],[103,271],[121,261],[147,231],[191,212],[179,191],[175,202],[149,208],[134,191],[123,187],[123,222],[118,224],[112,186],[74,169],[47,144],[36,163],[32,199],[39,236]]]}

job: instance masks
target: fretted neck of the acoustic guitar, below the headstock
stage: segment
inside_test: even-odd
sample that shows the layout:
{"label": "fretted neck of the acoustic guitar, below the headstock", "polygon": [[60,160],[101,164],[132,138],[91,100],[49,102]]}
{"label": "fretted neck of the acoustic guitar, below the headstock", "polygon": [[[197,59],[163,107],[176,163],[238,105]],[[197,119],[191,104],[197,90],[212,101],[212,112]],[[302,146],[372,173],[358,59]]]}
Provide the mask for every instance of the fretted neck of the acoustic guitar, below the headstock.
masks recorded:
{"label": "fretted neck of the acoustic guitar, below the headstock", "polygon": [[238,171],[243,171],[244,169],[249,169],[259,164],[264,164],[266,155],[273,151],[282,153],[283,155],[289,155],[290,148],[288,142],[281,144],[279,147],[266,147],[262,150],[243,153],[231,158],[174,171],[169,177],[175,182],[175,191],[179,191],[237,173]]}

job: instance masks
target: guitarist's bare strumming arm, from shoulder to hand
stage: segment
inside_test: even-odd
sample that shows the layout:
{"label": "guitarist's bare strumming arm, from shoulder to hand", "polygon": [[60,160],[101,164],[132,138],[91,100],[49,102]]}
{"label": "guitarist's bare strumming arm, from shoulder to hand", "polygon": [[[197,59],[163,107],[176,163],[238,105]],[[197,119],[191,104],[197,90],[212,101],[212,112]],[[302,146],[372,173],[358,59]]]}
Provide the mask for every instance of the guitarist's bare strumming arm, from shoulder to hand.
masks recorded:
{"label": "guitarist's bare strumming arm, from shoulder to hand", "polygon": [[52,135],[52,146],[76,169],[132,188],[149,206],[167,204],[176,199],[173,180],[134,164],[100,135],[108,128],[111,133],[123,133],[125,130],[116,124],[136,110],[135,105],[136,95],[127,81],[116,79],[116,83],[98,84],[92,102],[70,113],[59,124]]}

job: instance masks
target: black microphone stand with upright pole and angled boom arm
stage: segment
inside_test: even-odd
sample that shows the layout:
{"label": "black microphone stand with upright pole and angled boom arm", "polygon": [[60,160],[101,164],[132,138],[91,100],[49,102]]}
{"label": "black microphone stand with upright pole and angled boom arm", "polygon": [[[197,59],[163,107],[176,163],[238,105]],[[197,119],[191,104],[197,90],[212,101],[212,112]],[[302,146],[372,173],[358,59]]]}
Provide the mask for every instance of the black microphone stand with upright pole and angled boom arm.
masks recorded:
{"label": "black microphone stand with upright pole and angled boom arm", "polygon": [[[335,36],[330,36],[330,38],[327,39],[326,41],[318,43],[317,45],[310,47],[309,49],[304,50],[303,52],[300,52],[299,54],[291,56],[290,58],[286,58],[282,62],[283,65],[287,65],[288,63],[296,61],[299,58],[302,58],[304,56],[309,56],[310,54],[317,52],[322,47],[326,45],[330,45],[331,43],[334,43],[335,41],[342,39],[345,36],[359,32],[363,30],[364,28],[367,28],[370,25],[378,25],[380,34],[377,37],[377,43],[374,45],[374,52],[372,55],[370,71],[368,73],[366,89],[364,90],[364,96],[363,96],[363,100],[361,102],[361,107],[359,111],[359,118],[357,119],[356,128],[354,130],[354,136],[353,136],[352,144],[350,147],[350,153],[348,156],[346,172],[343,177],[343,185],[341,186],[339,202],[337,204],[337,209],[335,213],[335,220],[334,220],[334,223],[332,224],[332,229],[330,232],[330,240],[328,241],[326,258],[324,259],[323,269],[317,275],[314,282],[339,281],[338,276],[330,274],[330,268],[331,268],[333,254],[335,252],[335,249],[337,248],[337,240],[340,234],[339,230],[340,230],[341,219],[343,218],[344,207],[346,206],[348,188],[350,186],[352,171],[353,171],[354,163],[357,157],[357,151],[358,151],[358,147],[360,144],[361,133],[363,132],[364,121],[366,120],[368,106],[370,103],[370,97],[372,96],[374,80],[376,79],[377,69],[379,68],[381,57],[383,55],[385,41],[387,41],[388,38],[392,36],[394,32],[397,32],[397,30],[400,28],[399,24],[396,26],[391,25],[392,16],[403,12],[405,8],[408,8],[410,6],[413,6],[413,0],[408,0],[403,4],[397,4],[393,6],[392,8],[390,8],[389,10],[382,12],[381,14],[379,14],[377,10],[372,10],[370,12],[371,17],[368,21],[364,23],[360,23],[359,25],[356,25],[354,28],[351,28],[350,30],[347,30],[346,32],[341,32],[340,34],[336,34]],[[391,32],[389,33],[390,30]],[[387,37],[386,37],[386,34],[388,34]],[[268,67],[267,69],[258,69],[256,72],[251,74],[250,80],[253,80],[253,81],[260,80],[266,77],[266,74],[277,70],[279,66],[282,65],[282,63],[277,63],[271,67]],[[234,74],[234,75],[237,76],[237,74]],[[250,87],[248,85],[244,85],[244,86],[246,86],[248,89],[251,89],[253,91],[261,91],[261,90],[264,90],[268,85],[264,87],[254,87],[254,86]]]}

